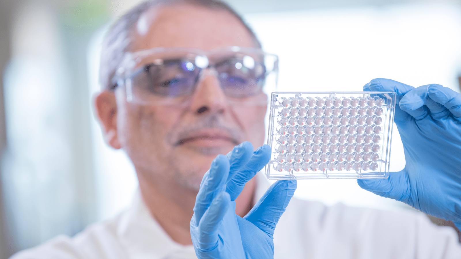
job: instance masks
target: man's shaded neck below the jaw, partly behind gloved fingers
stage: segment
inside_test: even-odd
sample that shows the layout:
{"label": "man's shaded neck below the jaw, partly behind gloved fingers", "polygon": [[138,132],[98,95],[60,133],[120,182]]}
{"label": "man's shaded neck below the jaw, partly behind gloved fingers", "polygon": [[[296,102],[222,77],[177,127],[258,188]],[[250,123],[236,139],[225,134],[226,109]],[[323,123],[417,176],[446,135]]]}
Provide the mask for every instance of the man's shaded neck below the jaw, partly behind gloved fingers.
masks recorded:
{"label": "man's shaded neck below the jaw, partly behind gloved fingers", "polygon": [[[194,214],[197,191],[184,188],[177,182],[149,181],[141,173],[138,173],[138,179],[142,199],[163,230],[177,243],[192,245],[189,224]],[[245,216],[253,207],[255,189],[253,178],[235,200],[238,216]]]}

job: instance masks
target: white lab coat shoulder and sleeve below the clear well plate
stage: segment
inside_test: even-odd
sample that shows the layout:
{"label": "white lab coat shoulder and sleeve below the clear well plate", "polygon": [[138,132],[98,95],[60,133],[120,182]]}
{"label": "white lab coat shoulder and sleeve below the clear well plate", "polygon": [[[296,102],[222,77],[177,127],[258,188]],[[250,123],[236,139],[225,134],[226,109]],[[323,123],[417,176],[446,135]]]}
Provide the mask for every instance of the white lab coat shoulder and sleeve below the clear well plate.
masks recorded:
{"label": "white lab coat shoulder and sleeve below the clear well plate", "polygon": [[297,247],[303,247],[298,249],[309,249],[309,253],[330,255],[331,258],[345,255],[355,258],[393,258],[397,255],[414,258],[420,255],[426,258],[422,254],[442,258],[443,254],[457,253],[459,256],[461,253],[455,231],[432,224],[421,212],[384,211],[341,203],[325,206],[296,198],[290,201],[274,233],[276,246],[284,247],[288,245],[286,241],[290,242],[290,247],[296,243]]}

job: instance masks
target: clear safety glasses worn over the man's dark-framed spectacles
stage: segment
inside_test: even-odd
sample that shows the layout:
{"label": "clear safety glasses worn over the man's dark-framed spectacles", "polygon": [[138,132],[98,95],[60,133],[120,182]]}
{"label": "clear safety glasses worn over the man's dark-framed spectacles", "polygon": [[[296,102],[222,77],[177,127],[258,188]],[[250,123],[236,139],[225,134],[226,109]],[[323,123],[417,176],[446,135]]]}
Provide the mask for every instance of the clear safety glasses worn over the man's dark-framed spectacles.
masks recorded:
{"label": "clear safety glasses worn over the man's dark-framed spectacles", "polygon": [[126,53],[112,82],[128,102],[187,106],[207,77],[215,77],[229,102],[267,105],[265,84],[277,84],[278,57],[259,48],[225,47],[204,52],[157,47]]}

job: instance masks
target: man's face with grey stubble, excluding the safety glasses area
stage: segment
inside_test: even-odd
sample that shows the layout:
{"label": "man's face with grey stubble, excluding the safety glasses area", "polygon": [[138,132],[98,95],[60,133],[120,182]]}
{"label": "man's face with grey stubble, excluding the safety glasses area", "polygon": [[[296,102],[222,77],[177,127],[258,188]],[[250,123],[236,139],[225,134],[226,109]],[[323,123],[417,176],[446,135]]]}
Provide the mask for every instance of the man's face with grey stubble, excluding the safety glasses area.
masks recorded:
{"label": "man's face with grey stubble, excluding the safety glasses area", "polygon": [[[135,34],[131,51],[255,47],[231,14],[196,6],[152,9],[140,18]],[[124,90],[117,89],[118,141],[142,177],[198,190],[216,155],[243,141],[263,144],[266,106],[230,104],[215,76],[201,79],[186,107],[128,103]]]}

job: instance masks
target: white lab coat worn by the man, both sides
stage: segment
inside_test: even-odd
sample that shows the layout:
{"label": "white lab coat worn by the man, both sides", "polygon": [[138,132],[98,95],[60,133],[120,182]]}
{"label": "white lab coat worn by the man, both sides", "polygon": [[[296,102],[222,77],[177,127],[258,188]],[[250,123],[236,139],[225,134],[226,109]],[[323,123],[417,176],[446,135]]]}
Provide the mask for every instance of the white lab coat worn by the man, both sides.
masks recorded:
{"label": "white lab coat worn by the man, both sides", "polygon": [[[268,187],[258,176],[255,200]],[[422,213],[387,212],[291,199],[274,234],[275,259],[461,259],[455,231]],[[138,193],[118,217],[74,237],[60,235],[13,259],[196,259],[150,216]]]}

